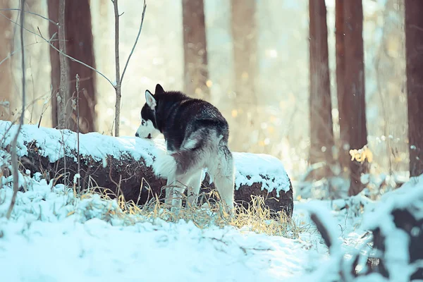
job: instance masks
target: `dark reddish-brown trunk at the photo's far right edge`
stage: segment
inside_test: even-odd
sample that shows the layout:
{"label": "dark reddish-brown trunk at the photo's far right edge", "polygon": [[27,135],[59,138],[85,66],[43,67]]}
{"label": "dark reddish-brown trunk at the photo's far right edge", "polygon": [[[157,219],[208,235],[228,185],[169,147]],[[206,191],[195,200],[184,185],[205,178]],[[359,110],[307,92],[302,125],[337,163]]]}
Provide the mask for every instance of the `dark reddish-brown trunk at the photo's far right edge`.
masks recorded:
{"label": "dark reddish-brown trunk at the photo's far right edge", "polygon": [[410,176],[423,173],[423,1],[405,0]]}

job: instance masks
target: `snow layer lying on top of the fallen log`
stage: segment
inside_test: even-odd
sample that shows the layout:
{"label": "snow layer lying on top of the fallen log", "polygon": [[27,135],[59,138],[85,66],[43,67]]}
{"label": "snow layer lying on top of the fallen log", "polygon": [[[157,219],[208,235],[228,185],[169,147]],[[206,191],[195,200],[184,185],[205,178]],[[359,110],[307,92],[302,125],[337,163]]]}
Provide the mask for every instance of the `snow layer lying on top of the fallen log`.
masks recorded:
{"label": "snow layer lying on top of the fallen log", "polygon": [[[0,141],[3,145],[10,145],[16,135],[17,125],[0,121]],[[65,154],[73,156],[77,150],[77,135],[70,130],[56,130],[54,128],[37,128],[36,125],[23,125],[18,137],[18,156],[27,155],[25,144],[35,142],[39,153],[54,162]],[[42,146],[41,146],[42,145]],[[41,147],[40,147],[41,146]],[[66,149],[64,149],[66,148]],[[147,166],[152,166],[154,160],[165,154],[164,140],[147,140],[137,137],[111,137],[99,133],[80,134],[80,154],[92,156],[94,161],[103,161],[106,165],[107,155],[120,159],[131,155],[135,160],[144,159]],[[262,190],[269,192],[274,189],[279,192],[289,191],[288,174],[283,164],[275,157],[266,154],[233,153],[235,160],[235,188],[240,185],[262,183]],[[275,179],[274,179],[275,178]]]}

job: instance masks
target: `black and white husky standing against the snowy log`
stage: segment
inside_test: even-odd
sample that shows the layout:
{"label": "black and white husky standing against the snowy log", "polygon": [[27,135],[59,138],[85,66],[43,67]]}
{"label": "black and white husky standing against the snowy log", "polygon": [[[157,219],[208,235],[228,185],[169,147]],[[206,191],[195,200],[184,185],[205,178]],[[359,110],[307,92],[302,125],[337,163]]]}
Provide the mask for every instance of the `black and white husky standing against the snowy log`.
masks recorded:
{"label": "black and white husky standing against the snowy log", "polygon": [[180,207],[180,195],[188,188],[188,202],[196,204],[202,169],[214,179],[221,200],[233,210],[234,165],[228,149],[228,122],[212,104],[182,92],[145,92],[141,125],[136,137],[152,138],[163,133],[168,154],[153,168],[167,178],[165,203]]}

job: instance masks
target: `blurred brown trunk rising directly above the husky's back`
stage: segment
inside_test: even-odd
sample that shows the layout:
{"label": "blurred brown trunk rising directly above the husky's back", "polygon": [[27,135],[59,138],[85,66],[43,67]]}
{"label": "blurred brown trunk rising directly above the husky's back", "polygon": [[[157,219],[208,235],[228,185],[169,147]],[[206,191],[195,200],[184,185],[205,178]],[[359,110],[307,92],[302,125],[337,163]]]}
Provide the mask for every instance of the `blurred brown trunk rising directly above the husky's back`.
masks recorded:
{"label": "blurred brown trunk rising directly above the husky's back", "polygon": [[203,0],[182,0],[185,92],[209,99]]}

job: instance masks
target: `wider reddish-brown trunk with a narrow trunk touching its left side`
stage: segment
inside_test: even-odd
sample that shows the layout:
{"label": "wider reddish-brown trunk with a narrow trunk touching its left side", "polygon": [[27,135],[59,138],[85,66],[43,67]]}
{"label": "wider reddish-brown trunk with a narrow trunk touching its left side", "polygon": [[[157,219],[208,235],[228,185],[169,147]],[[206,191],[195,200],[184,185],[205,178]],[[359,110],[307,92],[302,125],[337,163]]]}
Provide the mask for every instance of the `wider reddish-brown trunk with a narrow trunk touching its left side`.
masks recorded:
{"label": "wider reddish-brown trunk with a narrow trunk touching its left side", "polygon": [[[348,119],[350,149],[361,149],[367,144],[366,104],[364,96],[364,47],[362,1],[344,1],[345,32],[345,92],[343,116]],[[347,128],[345,128],[347,129]],[[367,171],[367,163],[350,161],[350,195],[357,195],[363,185],[361,173]]]}

